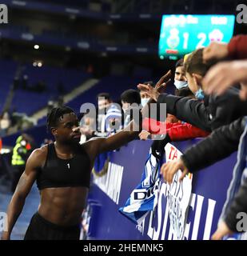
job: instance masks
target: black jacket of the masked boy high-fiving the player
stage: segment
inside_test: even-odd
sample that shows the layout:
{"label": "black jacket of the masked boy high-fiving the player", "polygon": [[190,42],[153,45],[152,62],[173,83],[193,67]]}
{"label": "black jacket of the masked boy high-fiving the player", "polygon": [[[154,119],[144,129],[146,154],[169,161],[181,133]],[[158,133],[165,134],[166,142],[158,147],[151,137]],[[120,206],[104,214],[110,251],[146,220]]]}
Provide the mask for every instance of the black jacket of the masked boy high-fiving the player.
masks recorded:
{"label": "black jacket of the masked boy high-fiving the player", "polygon": [[234,87],[221,96],[205,95],[204,102],[171,94],[161,94],[157,102],[166,103],[167,113],[209,132],[247,115],[247,102]]}

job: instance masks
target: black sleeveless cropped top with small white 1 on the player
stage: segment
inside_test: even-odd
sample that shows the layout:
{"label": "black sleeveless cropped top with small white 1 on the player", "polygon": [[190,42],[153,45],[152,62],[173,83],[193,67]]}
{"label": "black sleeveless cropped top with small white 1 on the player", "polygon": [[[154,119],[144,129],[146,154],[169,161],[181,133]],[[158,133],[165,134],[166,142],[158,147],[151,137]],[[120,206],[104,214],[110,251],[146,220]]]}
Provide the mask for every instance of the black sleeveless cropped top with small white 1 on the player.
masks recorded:
{"label": "black sleeveless cropped top with small white 1 on the player", "polygon": [[74,158],[61,159],[54,143],[48,145],[45,165],[38,170],[39,190],[48,187],[86,186],[90,187],[90,158],[82,146],[74,151]]}

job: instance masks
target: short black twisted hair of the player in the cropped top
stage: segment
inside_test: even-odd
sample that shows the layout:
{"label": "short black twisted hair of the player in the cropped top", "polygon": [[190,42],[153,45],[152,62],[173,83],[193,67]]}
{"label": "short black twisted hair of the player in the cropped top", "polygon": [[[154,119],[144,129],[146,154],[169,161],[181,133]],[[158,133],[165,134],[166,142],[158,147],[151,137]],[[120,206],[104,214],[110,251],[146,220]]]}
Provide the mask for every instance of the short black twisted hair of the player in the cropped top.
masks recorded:
{"label": "short black twisted hair of the player in the cropped top", "polygon": [[61,118],[64,114],[70,113],[74,113],[74,110],[72,110],[69,106],[59,106],[51,109],[47,114],[47,129],[50,130],[52,127],[58,126],[59,118]]}

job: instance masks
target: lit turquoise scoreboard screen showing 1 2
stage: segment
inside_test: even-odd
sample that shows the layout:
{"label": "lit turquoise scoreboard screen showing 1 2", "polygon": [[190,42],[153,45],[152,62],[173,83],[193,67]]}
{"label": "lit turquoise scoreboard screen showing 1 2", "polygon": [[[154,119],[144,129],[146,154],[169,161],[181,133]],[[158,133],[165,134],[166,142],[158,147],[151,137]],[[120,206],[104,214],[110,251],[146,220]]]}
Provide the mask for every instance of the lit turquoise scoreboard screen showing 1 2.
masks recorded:
{"label": "lit turquoise scoreboard screen showing 1 2", "polygon": [[158,54],[177,59],[210,42],[229,42],[234,15],[162,15]]}

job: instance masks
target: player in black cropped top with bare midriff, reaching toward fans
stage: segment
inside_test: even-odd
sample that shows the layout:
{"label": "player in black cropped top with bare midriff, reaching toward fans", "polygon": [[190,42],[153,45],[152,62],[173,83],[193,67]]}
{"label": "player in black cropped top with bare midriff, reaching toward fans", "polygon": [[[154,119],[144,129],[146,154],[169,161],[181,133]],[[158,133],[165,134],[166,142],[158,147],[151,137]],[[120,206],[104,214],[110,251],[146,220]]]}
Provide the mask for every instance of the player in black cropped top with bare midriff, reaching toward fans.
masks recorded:
{"label": "player in black cropped top with bare midriff, reaching toward fans", "polygon": [[94,159],[102,152],[115,150],[137,137],[131,122],[125,130],[109,138],[96,138],[79,144],[78,118],[69,107],[55,107],[47,115],[47,127],[55,142],[34,150],[26,162],[17,189],[7,210],[7,231],[11,231],[22,212],[35,180],[40,190],[38,211],[31,218],[26,240],[78,240],[82,210],[90,187]]}

